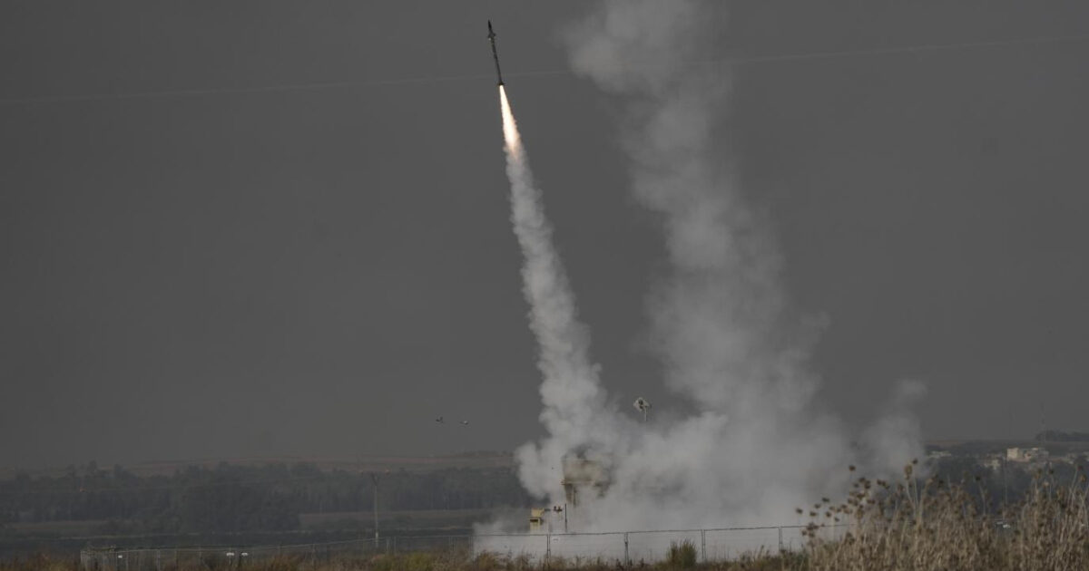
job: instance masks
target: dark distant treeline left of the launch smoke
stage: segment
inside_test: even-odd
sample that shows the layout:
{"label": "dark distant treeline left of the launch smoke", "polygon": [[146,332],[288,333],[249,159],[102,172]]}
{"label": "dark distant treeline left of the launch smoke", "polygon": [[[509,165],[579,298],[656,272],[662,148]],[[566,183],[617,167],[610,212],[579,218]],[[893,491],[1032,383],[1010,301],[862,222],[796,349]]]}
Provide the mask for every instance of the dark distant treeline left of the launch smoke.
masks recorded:
{"label": "dark distant treeline left of the launch smoke", "polygon": [[[213,469],[137,476],[120,466],[69,467],[61,476],[21,474],[0,482],[0,527],[14,522],[107,520],[102,533],[294,530],[298,514],[372,509],[369,474],[310,463]],[[528,506],[510,469],[397,471],[379,477],[380,510]]]}

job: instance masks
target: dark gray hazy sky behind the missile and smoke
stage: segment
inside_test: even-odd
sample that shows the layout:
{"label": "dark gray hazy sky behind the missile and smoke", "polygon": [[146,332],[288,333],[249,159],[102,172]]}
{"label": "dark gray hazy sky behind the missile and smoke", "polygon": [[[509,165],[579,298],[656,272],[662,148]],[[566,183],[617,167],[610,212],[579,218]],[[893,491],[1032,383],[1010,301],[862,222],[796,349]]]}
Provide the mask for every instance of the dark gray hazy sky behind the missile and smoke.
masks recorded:
{"label": "dark gray hazy sky behind the missile and smoke", "polygon": [[[619,102],[562,73],[584,9],[0,5],[0,464],[535,437],[489,17],[604,382],[683,407],[645,347],[663,252]],[[861,423],[914,377],[928,437],[1089,429],[1089,41],[725,63],[1084,35],[1089,4],[737,2],[721,34],[694,64],[733,70],[722,158],[827,320],[824,405]]]}

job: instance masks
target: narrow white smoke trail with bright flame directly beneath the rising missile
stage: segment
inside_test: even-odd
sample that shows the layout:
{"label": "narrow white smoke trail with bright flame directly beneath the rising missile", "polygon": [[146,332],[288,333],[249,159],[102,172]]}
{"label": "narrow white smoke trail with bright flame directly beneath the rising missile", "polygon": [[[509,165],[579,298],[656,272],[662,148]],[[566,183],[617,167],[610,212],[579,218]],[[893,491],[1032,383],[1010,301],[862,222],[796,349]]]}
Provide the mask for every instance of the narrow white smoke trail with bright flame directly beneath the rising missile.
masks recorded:
{"label": "narrow white smoke trail with bright flame directly beneath the rising missile", "polygon": [[[589,334],[578,322],[574,295],[552,244],[552,226],[544,216],[541,194],[534,184],[503,86],[499,87],[499,96],[506,175],[511,181],[511,221],[525,258],[523,293],[529,302],[529,325],[540,352],[538,367],[543,375],[540,393],[544,405],[541,422],[550,434],[540,447],[527,445],[518,450],[519,467],[530,493],[556,497],[561,493],[558,474],[563,455],[600,444],[595,435],[602,431],[595,426],[599,424],[598,414],[605,396],[597,367],[589,359]],[[540,473],[551,473],[552,477],[533,476]]]}

